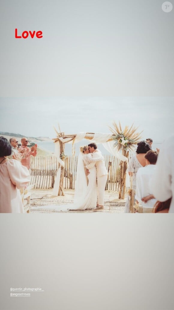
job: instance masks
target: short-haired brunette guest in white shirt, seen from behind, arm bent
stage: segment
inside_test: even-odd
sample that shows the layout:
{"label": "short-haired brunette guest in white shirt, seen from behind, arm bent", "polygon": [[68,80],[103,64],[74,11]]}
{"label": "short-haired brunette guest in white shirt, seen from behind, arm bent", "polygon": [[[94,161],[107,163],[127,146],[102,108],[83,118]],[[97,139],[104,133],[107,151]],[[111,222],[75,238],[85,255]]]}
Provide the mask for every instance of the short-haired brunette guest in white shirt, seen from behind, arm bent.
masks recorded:
{"label": "short-haired brunette guest in white shirt, seen from behind, arm bent", "polygon": [[140,202],[146,208],[153,208],[156,202],[150,187],[150,180],[155,172],[155,164],[158,158],[158,152],[150,150],[145,154],[146,166],[139,168],[136,178],[137,203]]}

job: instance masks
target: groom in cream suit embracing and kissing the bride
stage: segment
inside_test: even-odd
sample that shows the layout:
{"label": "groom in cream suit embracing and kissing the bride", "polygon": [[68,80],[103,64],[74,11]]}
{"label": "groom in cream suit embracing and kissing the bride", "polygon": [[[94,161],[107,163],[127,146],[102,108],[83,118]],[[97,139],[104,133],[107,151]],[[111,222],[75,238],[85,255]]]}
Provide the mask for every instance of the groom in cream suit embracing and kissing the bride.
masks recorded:
{"label": "groom in cream suit embracing and kissing the bride", "polygon": [[[98,157],[98,153],[100,152],[100,150],[97,149],[97,145],[95,143],[88,144],[88,149],[89,149],[89,153],[93,154],[93,158]],[[96,166],[96,170],[97,170],[97,193],[98,193],[97,209],[103,209],[104,190],[106,186],[108,172],[104,165],[104,160],[100,160],[99,162],[94,162],[91,164],[93,164],[93,166]]]}

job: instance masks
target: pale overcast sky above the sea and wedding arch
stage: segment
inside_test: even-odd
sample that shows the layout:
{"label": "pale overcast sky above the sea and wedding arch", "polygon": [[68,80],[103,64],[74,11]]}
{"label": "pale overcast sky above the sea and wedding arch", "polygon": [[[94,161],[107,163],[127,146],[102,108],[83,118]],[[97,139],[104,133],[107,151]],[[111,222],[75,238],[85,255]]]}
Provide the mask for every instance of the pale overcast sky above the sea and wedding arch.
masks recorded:
{"label": "pale overcast sky above the sea and wedding arch", "polygon": [[134,122],[144,138],[162,142],[174,132],[172,97],[0,98],[0,131],[55,137],[53,126],[66,134],[109,133],[112,122]]}

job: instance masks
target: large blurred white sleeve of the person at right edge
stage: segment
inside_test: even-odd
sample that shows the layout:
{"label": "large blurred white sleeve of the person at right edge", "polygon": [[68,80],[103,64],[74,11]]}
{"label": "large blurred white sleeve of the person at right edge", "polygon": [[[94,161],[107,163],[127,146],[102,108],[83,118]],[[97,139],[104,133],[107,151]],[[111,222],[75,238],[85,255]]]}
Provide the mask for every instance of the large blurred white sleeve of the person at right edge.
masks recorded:
{"label": "large blurred white sleeve of the person at right edge", "polygon": [[172,149],[168,147],[168,144],[163,144],[163,148],[159,151],[155,173],[150,182],[152,194],[159,201],[166,201],[172,197],[172,156]]}

